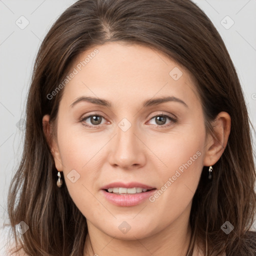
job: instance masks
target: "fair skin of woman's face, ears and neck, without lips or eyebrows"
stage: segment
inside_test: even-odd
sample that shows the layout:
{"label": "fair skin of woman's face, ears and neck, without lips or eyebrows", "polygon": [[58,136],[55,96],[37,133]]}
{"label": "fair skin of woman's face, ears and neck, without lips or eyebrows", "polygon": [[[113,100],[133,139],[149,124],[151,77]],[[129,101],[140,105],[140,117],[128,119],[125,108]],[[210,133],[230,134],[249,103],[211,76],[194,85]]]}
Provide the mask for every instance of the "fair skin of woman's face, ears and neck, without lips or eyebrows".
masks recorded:
{"label": "fair skin of woman's face, ears and neck, without lips or eyebrows", "polygon": [[[75,59],[70,72],[95,48],[99,52],[64,87],[56,136],[49,142],[56,169],[62,171],[72,200],[86,217],[84,255],[185,255],[192,197],[202,167],[213,165],[224,151],[230,116],[220,112],[214,120],[215,135],[206,134],[189,72],[142,45],[108,42],[92,47]],[[174,67],[183,73],[177,80],[169,75]],[[80,101],[70,107],[80,96],[104,98],[112,106]],[[175,96],[187,107],[175,101],[142,107],[144,100],[162,96]],[[100,124],[90,118],[80,121],[89,114],[103,116]],[[177,120],[166,118],[169,126],[161,128],[164,124],[156,117],[162,114]],[[118,127],[123,118],[131,124],[127,131]],[[50,140],[49,115],[42,122]],[[153,202],[116,206],[100,193],[101,186],[113,181],[161,189],[197,151],[200,156]],[[67,178],[72,169],[80,175],[75,183]],[[118,228],[123,221],[131,227],[125,234]],[[193,255],[201,254],[195,248]]]}

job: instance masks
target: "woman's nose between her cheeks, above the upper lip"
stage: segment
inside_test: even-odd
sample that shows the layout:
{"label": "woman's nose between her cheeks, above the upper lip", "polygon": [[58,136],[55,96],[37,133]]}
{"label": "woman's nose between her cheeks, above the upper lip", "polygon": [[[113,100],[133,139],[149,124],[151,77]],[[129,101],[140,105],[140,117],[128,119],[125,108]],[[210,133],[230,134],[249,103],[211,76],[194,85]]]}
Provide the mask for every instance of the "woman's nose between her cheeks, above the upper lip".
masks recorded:
{"label": "woman's nose between her cheeks, above the upper lip", "polygon": [[146,161],[146,146],[140,132],[134,128],[135,125],[131,125],[126,131],[120,127],[116,127],[117,134],[112,140],[109,163],[115,168],[126,170],[143,166]]}

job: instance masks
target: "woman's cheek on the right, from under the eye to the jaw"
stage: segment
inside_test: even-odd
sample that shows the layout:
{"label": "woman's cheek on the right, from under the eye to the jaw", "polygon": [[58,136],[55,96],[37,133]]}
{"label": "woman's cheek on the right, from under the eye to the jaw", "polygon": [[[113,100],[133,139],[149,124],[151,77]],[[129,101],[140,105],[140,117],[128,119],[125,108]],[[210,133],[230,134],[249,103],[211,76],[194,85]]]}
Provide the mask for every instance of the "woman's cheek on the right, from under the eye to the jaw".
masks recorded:
{"label": "woman's cheek on the right, from under the eye to the jaw", "polygon": [[203,166],[204,126],[190,126],[186,132],[169,134],[162,140],[162,147],[154,149],[166,166],[158,168],[161,184],[149,201],[155,205],[155,214],[175,218],[189,205],[199,182]]}

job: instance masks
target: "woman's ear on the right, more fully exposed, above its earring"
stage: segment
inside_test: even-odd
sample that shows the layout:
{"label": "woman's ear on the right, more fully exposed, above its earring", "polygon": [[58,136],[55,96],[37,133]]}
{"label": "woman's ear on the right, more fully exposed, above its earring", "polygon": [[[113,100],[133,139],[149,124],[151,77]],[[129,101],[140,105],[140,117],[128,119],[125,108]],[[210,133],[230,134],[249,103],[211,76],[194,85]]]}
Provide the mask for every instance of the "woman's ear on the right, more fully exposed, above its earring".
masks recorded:
{"label": "woman's ear on the right, more fully exposed, above its earring", "polygon": [[231,127],[231,118],[227,112],[220,112],[212,122],[214,135],[207,134],[205,142],[204,166],[215,164],[227,144]]}

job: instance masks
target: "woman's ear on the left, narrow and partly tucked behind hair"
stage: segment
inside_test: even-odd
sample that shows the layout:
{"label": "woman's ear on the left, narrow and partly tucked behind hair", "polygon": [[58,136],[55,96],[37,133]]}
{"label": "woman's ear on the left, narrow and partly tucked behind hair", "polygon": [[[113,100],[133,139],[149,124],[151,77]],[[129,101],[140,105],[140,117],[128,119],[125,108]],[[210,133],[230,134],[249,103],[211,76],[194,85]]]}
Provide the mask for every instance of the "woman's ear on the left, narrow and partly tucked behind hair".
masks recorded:
{"label": "woman's ear on the left, narrow and partly tucked behind hair", "polygon": [[55,137],[52,137],[52,127],[49,123],[49,119],[50,116],[48,114],[45,114],[42,117],[42,127],[43,127],[43,132],[46,138],[46,141],[50,147],[50,151],[51,154],[54,158],[54,162],[55,162],[55,167],[58,171],[62,171],[63,170],[63,165],[62,165],[62,161],[60,158],[60,153],[59,153],[59,149],[58,149],[58,145],[57,145],[57,139]]}

